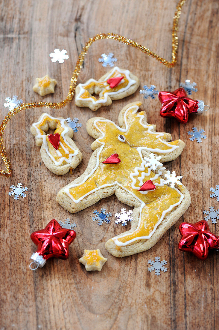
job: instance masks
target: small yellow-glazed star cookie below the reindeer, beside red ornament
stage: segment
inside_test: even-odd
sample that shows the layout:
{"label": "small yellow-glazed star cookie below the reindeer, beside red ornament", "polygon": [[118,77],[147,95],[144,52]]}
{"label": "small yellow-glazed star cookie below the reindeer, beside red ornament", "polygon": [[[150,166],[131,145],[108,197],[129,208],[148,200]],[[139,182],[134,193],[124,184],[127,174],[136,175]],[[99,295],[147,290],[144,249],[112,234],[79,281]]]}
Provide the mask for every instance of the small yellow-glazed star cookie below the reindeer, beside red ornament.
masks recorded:
{"label": "small yellow-glazed star cookie below the reindeer, beside red ornament", "polygon": [[83,256],[79,261],[85,265],[86,271],[98,270],[101,271],[103,265],[107,261],[107,258],[104,258],[99,249],[97,250],[84,250]]}

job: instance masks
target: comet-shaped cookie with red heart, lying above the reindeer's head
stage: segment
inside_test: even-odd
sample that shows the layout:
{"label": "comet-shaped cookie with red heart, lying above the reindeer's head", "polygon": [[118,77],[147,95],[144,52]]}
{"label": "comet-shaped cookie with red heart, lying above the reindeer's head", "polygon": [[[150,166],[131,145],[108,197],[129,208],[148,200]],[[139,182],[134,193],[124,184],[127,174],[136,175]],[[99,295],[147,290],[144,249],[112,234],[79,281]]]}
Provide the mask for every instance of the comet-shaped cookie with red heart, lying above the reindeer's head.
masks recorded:
{"label": "comet-shaped cookie with red heart, lying above the reindeer's head", "polygon": [[[91,78],[83,84],[79,83],[75,88],[75,104],[96,111],[102,106],[111,105],[112,100],[120,100],[133,94],[139,85],[139,79],[129,70],[116,66],[98,81]],[[94,93],[99,95],[98,99],[92,96]]]}

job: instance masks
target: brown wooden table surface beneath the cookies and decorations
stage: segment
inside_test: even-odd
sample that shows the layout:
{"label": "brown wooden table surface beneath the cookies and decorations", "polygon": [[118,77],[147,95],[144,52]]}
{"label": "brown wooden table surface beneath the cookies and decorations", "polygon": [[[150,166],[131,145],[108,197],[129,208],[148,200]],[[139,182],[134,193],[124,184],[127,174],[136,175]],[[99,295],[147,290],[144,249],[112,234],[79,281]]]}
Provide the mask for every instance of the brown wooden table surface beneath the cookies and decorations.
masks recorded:
{"label": "brown wooden table surface beneath the cookies and decorations", "polygon": [[[2,0],[0,104],[1,119],[8,112],[6,97],[17,95],[24,102],[63,100],[82,46],[99,32],[122,34],[171,59],[172,18],[177,0]],[[192,98],[204,100],[210,110],[192,115],[185,125],[159,115],[160,102],[143,99],[139,89],[131,96],[114,101],[96,113],[78,108],[74,100],[61,110],[34,109],[17,114],[5,131],[5,146],[13,166],[13,176],[0,177],[0,329],[218,329],[218,252],[205,261],[180,252],[178,226],[182,221],[197,222],[209,206],[219,209],[209,188],[218,181],[218,1],[187,0],[179,22],[178,62],[167,68],[153,58],[117,41],[94,43],[85,58],[78,82],[99,79],[110,68],[98,62],[102,53],[113,52],[117,65],[136,74],[143,85],[173,91],[180,82],[197,82]],[[68,60],[53,63],[49,53],[66,49]],[[32,90],[36,77],[49,74],[57,80],[55,94],[40,97]],[[74,215],[55,201],[57,192],[80,176],[92,154],[93,138],[86,131],[87,119],[103,116],[118,122],[118,114],[129,102],[141,100],[149,123],[185,142],[181,156],[168,163],[170,171],[183,175],[192,203],[187,212],[150,250],[133,256],[110,255],[105,242],[124,229],[111,223],[98,226],[93,211],[104,207],[112,214],[122,207],[115,195]],[[42,163],[40,148],[30,132],[42,112],[52,116],[78,117],[83,126],[74,134],[83,160],[73,171],[56,176]],[[192,127],[204,129],[202,143],[189,140]],[[1,168],[4,168],[1,162]],[[27,196],[14,200],[10,186],[18,182],[28,187]],[[33,231],[51,219],[70,218],[77,223],[77,237],[70,246],[68,260],[50,259],[32,272],[29,257],[36,251],[30,239]],[[208,221],[219,235],[219,220]],[[78,262],[84,249],[99,248],[108,258],[101,272],[86,272]],[[159,256],[168,271],[156,276],[148,271],[148,260]]]}

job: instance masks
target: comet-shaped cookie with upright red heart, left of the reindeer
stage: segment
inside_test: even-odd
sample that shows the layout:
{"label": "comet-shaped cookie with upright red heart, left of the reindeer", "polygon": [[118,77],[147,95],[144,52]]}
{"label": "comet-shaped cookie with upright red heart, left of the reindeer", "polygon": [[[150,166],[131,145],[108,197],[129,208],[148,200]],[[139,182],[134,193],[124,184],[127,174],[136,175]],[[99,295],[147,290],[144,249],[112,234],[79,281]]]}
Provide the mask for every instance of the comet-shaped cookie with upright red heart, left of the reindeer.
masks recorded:
{"label": "comet-shaped cookie with upright red heart, left of the reindeer", "polygon": [[[49,129],[55,130],[54,135],[46,135]],[[81,162],[82,153],[72,141],[73,129],[64,118],[55,118],[44,113],[30,130],[36,138],[36,145],[41,147],[42,161],[54,174],[66,174]]]}

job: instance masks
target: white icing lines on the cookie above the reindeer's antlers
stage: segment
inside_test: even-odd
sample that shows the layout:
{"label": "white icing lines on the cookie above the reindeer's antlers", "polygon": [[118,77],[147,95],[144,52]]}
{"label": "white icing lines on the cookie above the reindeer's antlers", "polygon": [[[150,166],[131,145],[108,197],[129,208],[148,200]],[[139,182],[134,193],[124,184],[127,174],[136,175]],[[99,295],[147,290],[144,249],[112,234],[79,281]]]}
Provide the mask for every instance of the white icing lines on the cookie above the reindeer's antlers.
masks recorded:
{"label": "white icing lines on the cookie above the reindeer's antlers", "polygon": [[[86,91],[86,89],[83,88],[83,87],[86,87],[91,82],[100,83],[100,81],[97,81],[97,80],[91,78],[91,79],[89,79],[87,82],[85,82],[83,84],[82,83],[79,83],[78,84],[78,86],[80,88],[80,91],[79,91],[78,95],[76,96],[76,100],[80,100],[80,101],[84,101],[84,100],[86,100],[86,101],[92,101],[93,104],[98,104],[98,103],[104,104],[107,101],[107,96],[108,95],[110,96],[110,95],[116,95],[116,94],[122,93],[122,92],[126,91],[129,87],[131,87],[132,85],[134,85],[136,83],[135,80],[133,80],[133,79],[130,78],[130,76],[129,76],[130,71],[129,70],[120,69],[120,68],[118,68],[118,66],[115,66],[115,68],[113,68],[113,71],[110,72],[109,75],[106,77],[106,79],[104,81],[102,81],[102,82],[107,82],[107,80],[114,74],[114,72],[116,70],[121,74],[121,76],[122,76],[122,74],[124,74],[125,77],[126,77],[126,79],[128,79],[128,84],[125,87],[123,87],[123,88],[121,88],[121,89],[119,89],[118,91],[115,91],[115,92],[105,92],[104,95],[103,95],[104,98],[103,99],[98,99],[96,101],[92,97],[87,97],[86,99],[85,98],[82,98],[81,95]],[[120,76],[117,75],[116,77],[120,77]],[[116,78],[116,77],[114,77],[114,78]],[[124,82],[124,79],[117,86],[119,86],[122,82]],[[106,86],[105,83],[104,83],[104,86]],[[107,87],[109,87],[109,88],[107,88]],[[107,86],[107,87],[106,87],[106,89],[111,89],[110,86]]]}

